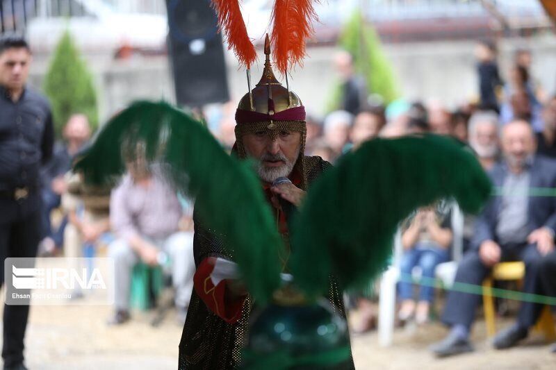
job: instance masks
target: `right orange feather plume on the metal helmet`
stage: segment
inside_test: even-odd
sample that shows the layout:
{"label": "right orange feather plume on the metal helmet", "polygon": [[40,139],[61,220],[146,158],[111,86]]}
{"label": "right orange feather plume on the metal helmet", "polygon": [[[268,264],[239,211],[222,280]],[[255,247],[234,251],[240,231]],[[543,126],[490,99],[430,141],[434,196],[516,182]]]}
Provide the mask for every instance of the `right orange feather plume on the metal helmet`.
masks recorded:
{"label": "right orange feather plume on the metal helmet", "polygon": [[313,20],[318,20],[313,0],[276,0],[270,39],[280,72],[286,73],[289,66],[302,63],[305,39],[314,32]]}

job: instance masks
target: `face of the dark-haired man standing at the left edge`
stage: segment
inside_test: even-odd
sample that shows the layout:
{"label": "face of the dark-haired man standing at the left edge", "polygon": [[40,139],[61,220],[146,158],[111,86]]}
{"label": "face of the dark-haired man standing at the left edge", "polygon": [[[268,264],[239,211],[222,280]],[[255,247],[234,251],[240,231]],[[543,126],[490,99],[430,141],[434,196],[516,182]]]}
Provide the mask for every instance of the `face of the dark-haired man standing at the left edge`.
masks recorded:
{"label": "face of the dark-haired man standing at the left edge", "polygon": [[31,53],[25,48],[10,48],[0,54],[0,85],[22,90],[27,82]]}

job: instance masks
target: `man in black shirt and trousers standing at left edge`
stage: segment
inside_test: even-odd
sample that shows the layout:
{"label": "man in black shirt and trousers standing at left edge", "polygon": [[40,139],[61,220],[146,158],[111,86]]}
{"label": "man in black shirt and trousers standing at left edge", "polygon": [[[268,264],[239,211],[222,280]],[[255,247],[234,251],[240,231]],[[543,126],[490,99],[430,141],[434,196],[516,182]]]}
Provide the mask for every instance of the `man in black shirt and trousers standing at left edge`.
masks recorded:
{"label": "man in black shirt and trousers standing at left edge", "polygon": [[[39,168],[52,154],[49,103],[26,86],[31,51],[24,39],[0,38],[0,285],[4,260],[34,258],[41,235]],[[4,305],[4,369],[23,364],[28,305]]]}

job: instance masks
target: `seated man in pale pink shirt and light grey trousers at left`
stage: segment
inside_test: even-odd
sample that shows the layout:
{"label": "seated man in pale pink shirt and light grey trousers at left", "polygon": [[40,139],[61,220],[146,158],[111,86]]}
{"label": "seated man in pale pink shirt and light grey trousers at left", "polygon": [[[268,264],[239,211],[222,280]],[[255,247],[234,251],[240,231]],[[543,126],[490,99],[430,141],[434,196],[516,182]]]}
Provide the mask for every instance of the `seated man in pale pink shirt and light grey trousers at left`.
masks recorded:
{"label": "seated man in pale pink shirt and light grey trousers at left", "polygon": [[169,258],[175,304],[185,321],[193,289],[193,235],[179,230],[183,215],[177,193],[157,170],[138,159],[113,190],[110,219],[117,239],[108,247],[115,263],[115,315],[111,324],[129,319],[131,271],[135,264],[156,265]]}

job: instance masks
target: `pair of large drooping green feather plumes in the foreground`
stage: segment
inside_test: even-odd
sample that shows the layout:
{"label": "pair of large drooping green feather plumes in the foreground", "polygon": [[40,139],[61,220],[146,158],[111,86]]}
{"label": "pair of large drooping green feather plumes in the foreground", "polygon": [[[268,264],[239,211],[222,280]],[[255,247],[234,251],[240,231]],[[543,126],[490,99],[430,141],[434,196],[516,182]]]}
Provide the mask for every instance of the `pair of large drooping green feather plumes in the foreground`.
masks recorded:
{"label": "pair of large drooping green feather plumes in the foreground", "polygon": [[[284,244],[250,162],[224,153],[180,110],[138,102],[104,126],[76,169],[90,183],[114,183],[125,171],[124,149],[137,145],[195,199],[199,219],[234,254],[250,294],[268,301],[280,285]],[[395,230],[411,211],[453,196],[477,212],[490,192],[480,164],[455,140],[427,135],[363,144],[322,174],[293,219],[295,283],[308,296],[324,293],[330,276],[343,287],[365,285],[385,267]]]}

